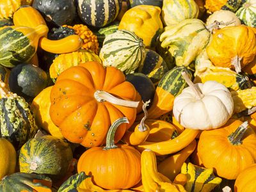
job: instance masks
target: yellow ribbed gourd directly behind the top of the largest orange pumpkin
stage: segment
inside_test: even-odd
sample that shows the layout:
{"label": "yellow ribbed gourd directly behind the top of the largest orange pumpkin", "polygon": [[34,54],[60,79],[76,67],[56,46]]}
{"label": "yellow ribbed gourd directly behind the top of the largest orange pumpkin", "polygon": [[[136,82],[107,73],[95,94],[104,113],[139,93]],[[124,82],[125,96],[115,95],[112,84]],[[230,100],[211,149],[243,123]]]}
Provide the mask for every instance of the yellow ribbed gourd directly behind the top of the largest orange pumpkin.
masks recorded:
{"label": "yellow ribbed gourd directly behind the top of the largest orange pumpkin", "polygon": [[64,53],[56,56],[52,61],[51,67],[49,69],[50,77],[56,82],[57,77],[72,66],[77,66],[80,63],[85,63],[86,61],[99,61],[101,62],[99,56],[94,54],[92,51],[79,50],[69,53]]}

